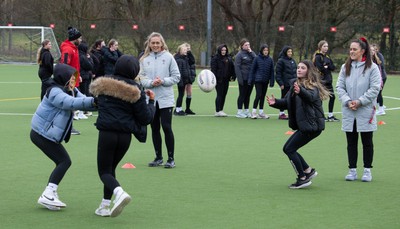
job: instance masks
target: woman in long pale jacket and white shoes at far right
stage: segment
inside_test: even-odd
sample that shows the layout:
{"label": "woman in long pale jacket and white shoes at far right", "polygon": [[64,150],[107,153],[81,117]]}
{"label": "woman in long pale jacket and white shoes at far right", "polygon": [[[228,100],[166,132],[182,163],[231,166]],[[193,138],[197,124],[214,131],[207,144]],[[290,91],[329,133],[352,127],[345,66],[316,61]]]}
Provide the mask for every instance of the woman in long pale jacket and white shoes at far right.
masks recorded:
{"label": "woman in long pale jacket and white shoes at far right", "polygon": [[346,132],[349,173],[345,179],[357,180],[358,136],[363,144],[364,173],[362,181],[372,180],[374,156],[373,131],[377,130],[375,106],[381,85],[378,66],[372,62],[365,38],[350,44],[350,53],[342,66],[336,89],[342,103],[342,130]]}

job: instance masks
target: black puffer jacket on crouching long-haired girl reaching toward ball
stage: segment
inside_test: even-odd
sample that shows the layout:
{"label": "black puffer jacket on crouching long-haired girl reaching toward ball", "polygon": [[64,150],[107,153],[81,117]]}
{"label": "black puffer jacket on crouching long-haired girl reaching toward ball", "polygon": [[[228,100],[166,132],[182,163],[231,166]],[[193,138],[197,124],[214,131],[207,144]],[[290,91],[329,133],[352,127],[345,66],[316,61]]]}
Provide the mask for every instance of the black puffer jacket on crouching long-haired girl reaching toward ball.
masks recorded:
{"label": "black puffer jacket on crouching long-haired girl reaching toward ball", "polygon": [[300,93],[291,87],[283,99],[276,99],[272,107],[287,109],[289,127],[302,132],[318,132],[325,129],[324,110],[317,88],[306,89],[301,86]]}

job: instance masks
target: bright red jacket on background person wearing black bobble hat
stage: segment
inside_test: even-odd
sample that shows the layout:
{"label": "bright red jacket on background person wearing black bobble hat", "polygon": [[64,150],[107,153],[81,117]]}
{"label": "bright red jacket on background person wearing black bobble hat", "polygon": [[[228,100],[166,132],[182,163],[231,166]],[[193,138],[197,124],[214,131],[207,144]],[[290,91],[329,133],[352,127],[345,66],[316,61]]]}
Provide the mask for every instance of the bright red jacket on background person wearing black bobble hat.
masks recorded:
{"label": "bright red jacket on background person wearing black bobble hat", "polygon": [[79,71],[81,66],[79,64],[79,51],[78,47],[74,45],[71,41],[65,40],[61,43],[61,63],[68,64],[71,67],[74,67],[77,70],[77,79],[76,79],[76,87],[79,87],[80,75]]}

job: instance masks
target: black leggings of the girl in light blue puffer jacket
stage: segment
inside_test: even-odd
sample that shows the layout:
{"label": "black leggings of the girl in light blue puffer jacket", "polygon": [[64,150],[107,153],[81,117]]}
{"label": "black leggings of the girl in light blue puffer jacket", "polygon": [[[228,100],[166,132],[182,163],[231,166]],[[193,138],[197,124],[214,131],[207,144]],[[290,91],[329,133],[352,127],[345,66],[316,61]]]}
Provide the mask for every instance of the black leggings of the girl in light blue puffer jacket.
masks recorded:
{"label": "black leggings of the girl in light blue puffer jacket", "polygon": [[31,130],[30,137],[33,144],[42,150],[43,153],[56,164],[56,167],[50,175],[49,183],[58,185],[72,163],[68,152],[62,144],[52,142],[36,133],[34,130]]}

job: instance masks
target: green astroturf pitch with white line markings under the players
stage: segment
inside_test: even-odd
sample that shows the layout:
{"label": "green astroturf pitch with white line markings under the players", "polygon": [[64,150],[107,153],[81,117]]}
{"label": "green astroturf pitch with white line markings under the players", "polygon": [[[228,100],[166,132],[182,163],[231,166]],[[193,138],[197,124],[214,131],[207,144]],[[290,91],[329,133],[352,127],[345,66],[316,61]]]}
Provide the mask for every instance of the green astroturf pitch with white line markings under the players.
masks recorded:
{"label": "green astroturf pitch with white line markings under the players", "polygon": [[[310,187],[290,190],[296,175],[282,152],[290,129],[278,120],[278,110],[265,107],[269,120],[236,118],[238,88],[232,82],[224,108],[229,117],[217,118],[215,91],[193,85],[191,108],[197,114],[173,117],[176,168],[147,167],[154,158],[149,128],[148,142],[133,139],[117,169],[132,202],[117,218],[102,218],[94,214],[103,192],[97,113],[74,121],[82,134],[64,144],[72,166],[58,193],[67,208],[44,209],[37,199],[54,164],[29,138],[40,100],[37,66],[0,65],[0,228],[400,228],[399,87],[400,77],[390,75],[383,93],[386,115],[378,116],[385,124],[374,133],[372,182],[344,180],[345,134],[340,122],[330,122],[299,150],[319,175]],[[280,90],[275,85],[267,94],[279,97]],[[341,119],[337,99],[335,116]],[[360,176],[361,142],[359,149]],[[136,168],[121,168],[125,163]]]}

